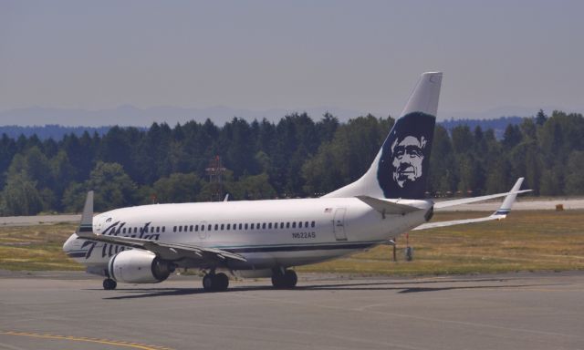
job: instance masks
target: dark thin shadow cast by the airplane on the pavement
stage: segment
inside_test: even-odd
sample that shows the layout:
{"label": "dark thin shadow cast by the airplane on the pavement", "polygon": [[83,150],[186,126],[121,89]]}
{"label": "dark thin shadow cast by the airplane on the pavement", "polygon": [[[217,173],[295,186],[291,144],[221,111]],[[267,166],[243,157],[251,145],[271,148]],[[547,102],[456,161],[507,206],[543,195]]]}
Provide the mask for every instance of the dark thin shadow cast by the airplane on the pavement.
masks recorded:
{"label": "dark thin shadow cast by the airplane on the pavement", "polygon": [[[495,284],[495,283],[503,284]],[[502,288],[525,288],[534,286],[549,286],[551,284],[544,283],[514,283],[506,284],[509,279],[456,279],[456,280],[436,280],[436,281],[412,281],[412,282],[363,282],[363,283],[320,283],[298,285],[294,289],[288,289],[289,292],[307,292],[307,291],[397,291],[397,293],[426,293],[426,292],[441,292],[452,290],[481,290],[481,289],[502,289]],[[435,283],[450,283],[443,286],[433,286]],[[464,283],[464,284],[463,284]],[[478,285],[468,285],[467,283],[481,283]],[[489,283],[489,284],[486,284]],[[493,284],[490,284],[493,283]],[[415,286],[412,286],[415,285]],[[462,284],[462,285],[461,285]],[[91,290],[98,290],[91,289]],[[271,285],[257,285],[257,286],[235,286],[229,288],[224,292],[215,293],[236,293],[236,292],[251,292],[251,291],[271,291],[274,287]],[[284,290],[286,291],[286,290]],[[113,292],[113,291],[112,291]],[[108,291],[107,293],[110,293]],[[117,295],[104,297],[105,300],[117,299],[138,299],[164,296],[180,296],[193,294],[206,294],[209,292],[203,291],[203,288],[120,288],[114,293]],[[121,295],[120,295],[121,293]]]}

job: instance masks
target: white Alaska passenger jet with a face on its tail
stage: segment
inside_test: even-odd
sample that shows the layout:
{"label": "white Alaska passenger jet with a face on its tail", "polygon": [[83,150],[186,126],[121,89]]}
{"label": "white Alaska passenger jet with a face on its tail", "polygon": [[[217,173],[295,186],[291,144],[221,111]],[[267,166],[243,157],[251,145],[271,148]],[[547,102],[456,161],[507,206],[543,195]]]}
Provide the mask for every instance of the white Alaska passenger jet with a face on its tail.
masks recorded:
{"label": "white Alaska passenger jet with a face on its tail", "polygon": [[[523,178],[505,193],[452,201],[425,199],[441,72],[423,73],[381,149],[359,180],[320,198],[151,204],[93,214],[89,191],[78,230],[63,250],[117,283],[160,283],[177,268],[204,273],[203,289],[225,291],[226,273],[297,285],[295,266],[324,262],[388,243],[392,237],[505,219]],[[493,214],[429,222],[434,209],[505,197]],[[226,272],[226,273],[225,273]]]}

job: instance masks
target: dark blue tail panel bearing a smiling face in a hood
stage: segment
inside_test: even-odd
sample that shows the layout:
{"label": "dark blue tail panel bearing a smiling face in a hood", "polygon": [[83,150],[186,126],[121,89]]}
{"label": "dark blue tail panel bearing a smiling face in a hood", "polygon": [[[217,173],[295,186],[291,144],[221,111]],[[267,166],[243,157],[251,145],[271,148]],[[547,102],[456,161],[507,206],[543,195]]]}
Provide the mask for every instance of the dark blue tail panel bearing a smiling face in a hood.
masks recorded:
{"label": "dark blue tail panel bearing a smiling face in a hood", "polygon": [[410,113],[399,118],[383,143],[377,180],[386,198],[421,199],[425,192],[435,118]]}

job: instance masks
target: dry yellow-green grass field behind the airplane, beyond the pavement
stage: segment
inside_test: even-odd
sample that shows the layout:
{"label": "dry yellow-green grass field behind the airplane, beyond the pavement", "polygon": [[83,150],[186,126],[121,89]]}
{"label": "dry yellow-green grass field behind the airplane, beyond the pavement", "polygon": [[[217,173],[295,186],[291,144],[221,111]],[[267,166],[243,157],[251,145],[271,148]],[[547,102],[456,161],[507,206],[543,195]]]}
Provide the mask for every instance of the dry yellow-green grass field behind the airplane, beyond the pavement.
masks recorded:
{"label": "dry yellow-green grass field behind the airplane, beyond the pavement", "polygon": [[[434,221],[464,219],[482,212],[436,213]],[[61,251],[76,225],[60,223],[0,228],[0,269],[83,270]],[[514,211],[503,221],[410,233],[414,259],[398,262],[380,246],[344,259],[297,268],[298,272],[422,275],[584,270],[584,211]]]}

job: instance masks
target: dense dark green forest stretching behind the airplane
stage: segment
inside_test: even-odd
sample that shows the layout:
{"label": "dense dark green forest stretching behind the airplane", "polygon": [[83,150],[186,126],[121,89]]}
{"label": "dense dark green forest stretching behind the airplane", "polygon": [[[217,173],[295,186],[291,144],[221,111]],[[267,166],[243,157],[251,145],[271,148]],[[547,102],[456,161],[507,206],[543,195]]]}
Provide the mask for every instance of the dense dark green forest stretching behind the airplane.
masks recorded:
{"label": "dense dark green forest stretching behind the airplane", "polygon": [[[110,128],[62,139],[0,138],[0,214],[77,212],[87,190],[96,211],[147,203],[318,197],[357,180],[394,119],[339,123],[306,113],[277,123],[233,118],[173,128]],[[219,157],[221,185],[207,169]],[[584,118],[554,111],[493,129],[436,125],[428,198],[508,190],[518,177],[533,195],[584,194]]]}

